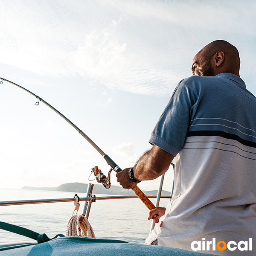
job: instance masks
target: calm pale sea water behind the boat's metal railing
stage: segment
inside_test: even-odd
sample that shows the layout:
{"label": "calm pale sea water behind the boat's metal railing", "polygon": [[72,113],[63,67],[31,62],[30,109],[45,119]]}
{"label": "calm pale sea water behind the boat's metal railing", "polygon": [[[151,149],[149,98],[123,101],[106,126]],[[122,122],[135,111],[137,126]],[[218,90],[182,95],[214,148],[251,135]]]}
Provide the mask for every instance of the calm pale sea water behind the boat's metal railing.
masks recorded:
{"label": "calm pale sea water behind the boat's metal railing", "polygon": [[[56,192],[27,189],[0,189],[0,201],[19,201],[53,198],[73,198],[74,192]],[[80,198],[85,193],[77,193]],[[97,195],[107,196],[107,195]],[[155,204],[155,198],[151,201]],[[169,199],[163,198],[160,206],[166,207]],[[81,215],[85,201],[76,215]],[[49,238],[66,235],[69,219],[75,206],[73,202],[0,206],[0,221],[25,227]],[[76,212],[75,212],[76,213]],[[148,209],[138,198],[96,200],[92,203],[88,221],[97,239],[117,239],[144,244],[150,233],[151,220]],[[0,245],[6,243],[35,242],[35,240],[0,229]]]}

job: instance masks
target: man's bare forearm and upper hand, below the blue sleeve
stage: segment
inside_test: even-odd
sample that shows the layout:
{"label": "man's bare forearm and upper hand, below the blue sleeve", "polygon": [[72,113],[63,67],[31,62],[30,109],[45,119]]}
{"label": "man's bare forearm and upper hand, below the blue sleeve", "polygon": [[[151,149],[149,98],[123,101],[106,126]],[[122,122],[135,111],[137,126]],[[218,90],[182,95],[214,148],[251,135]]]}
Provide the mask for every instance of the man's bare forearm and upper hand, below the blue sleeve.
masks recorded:
{"label": "man's bare forearm and upper hand, below the blue sleeve", "polygon": [[[137,164],[133,167],[134,179],[136,180],[154,180],[164,174],[172,163],[174,156],[169,154],[162,148],[156,145],[146,151],[138,160]],[[125,189],[134,188],[137,183],[131,181],[128,177],[126,168],[121,172],[116,173],[117,181]]]}

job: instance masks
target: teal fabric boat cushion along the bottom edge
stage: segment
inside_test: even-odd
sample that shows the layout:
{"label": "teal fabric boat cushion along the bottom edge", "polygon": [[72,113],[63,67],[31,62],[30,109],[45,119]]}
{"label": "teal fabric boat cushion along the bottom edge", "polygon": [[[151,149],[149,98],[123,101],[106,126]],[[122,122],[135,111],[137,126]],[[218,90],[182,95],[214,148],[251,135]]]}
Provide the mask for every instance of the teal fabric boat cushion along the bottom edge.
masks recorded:
{"label": "teal fabric boat cushion along the bottom edge", "polygon": [[61,237],[41,244],[2,247],[0,256],[210,256],[171,247],[127,243],[119,240]]}

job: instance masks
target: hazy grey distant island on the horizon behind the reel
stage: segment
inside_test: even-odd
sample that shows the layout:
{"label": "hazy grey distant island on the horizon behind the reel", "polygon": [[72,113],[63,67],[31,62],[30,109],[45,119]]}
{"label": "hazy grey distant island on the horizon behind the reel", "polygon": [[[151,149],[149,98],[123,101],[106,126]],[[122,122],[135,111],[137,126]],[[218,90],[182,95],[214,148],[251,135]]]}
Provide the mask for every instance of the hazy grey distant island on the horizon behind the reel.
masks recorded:
{"label": "hazy grey distant island on the horizon behind the reel", "polygon": [[[22,189],[33,190],[50,190],[50,191],[62,191],[62,192],[80,192],[86,193],[88,184],[85,183],[65,183],[58,187],[30,187],[24,186]],[[157,195],[157,190],[143,191],[145,195]],[[110,189],[105,189],[104,186],[96,184],[93,186],[93,194],[107,194],[107,195],[134,195],[134,192],[128,189],[123,189],[119,186],[111,186]],[[162,190],[161,195],[170,195],[171,193],[166,190]]]}

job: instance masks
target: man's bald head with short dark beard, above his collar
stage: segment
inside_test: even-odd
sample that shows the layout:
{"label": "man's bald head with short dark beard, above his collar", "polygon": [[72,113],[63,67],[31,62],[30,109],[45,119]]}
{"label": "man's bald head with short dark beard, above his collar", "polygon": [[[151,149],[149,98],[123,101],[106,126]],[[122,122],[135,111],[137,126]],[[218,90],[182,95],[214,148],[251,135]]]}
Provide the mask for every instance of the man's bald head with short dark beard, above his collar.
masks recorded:
{"label": "man's bald head with short dark beard, above his collar", "polygon": [[199,51],[192,65],[192,73],[197,76],[216,76],[220,73],[233,73],[239,76],[239,52],[224,40],[213,41]]}

